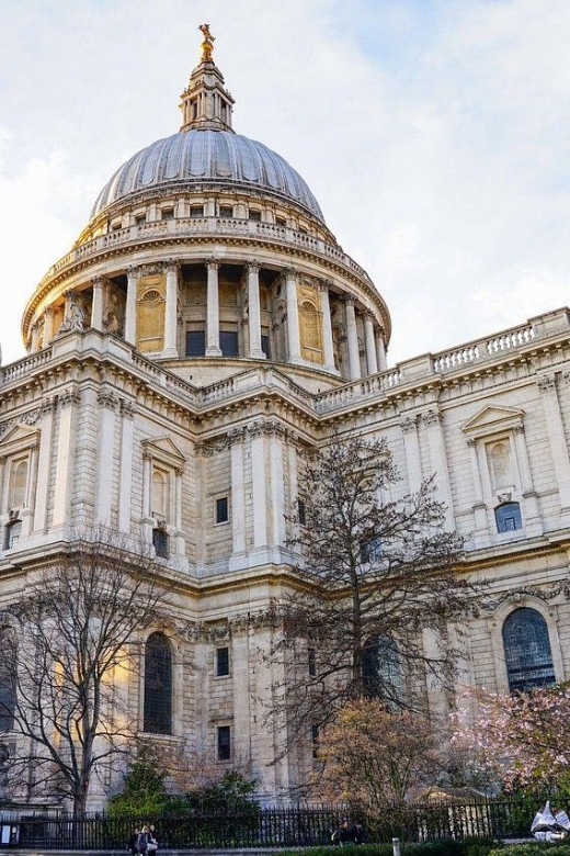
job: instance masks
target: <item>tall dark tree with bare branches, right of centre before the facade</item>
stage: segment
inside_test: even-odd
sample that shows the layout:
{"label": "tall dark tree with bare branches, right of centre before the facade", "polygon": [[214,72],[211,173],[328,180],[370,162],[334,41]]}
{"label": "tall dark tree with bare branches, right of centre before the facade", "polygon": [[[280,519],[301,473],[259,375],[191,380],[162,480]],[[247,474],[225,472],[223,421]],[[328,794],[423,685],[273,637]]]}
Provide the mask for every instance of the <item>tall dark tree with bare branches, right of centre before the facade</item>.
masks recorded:
{"label": "tall dark tree with bare branches, right of centre before the facade", "polygon": [[422,692],[412,690],[430,675],[452,680],[449,622],[474,597],[458,566],[461,539],[444,528],[433,480],[390,498],[398,481],[384,439],[337,437],[304,461],[290,516],[297,590],[278,612],[271,652],[285,663],[274,712],[286,716],[289,747],[350,700],[413,709]]}

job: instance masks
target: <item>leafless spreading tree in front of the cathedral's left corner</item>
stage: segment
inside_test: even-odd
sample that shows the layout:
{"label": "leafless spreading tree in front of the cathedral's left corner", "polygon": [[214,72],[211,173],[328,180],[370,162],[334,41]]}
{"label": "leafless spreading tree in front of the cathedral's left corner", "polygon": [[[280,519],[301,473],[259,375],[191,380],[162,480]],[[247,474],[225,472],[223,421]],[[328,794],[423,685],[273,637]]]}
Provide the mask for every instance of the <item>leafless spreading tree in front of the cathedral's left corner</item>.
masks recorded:
{"label": "leafless spreading tree in front of the cathedral's left corner", "polygon": [[0,662],[10,663],[0,717],[16,744],[12,782],[84,813],[93,777],[113,768],[137,731],[128,682],[140,631],[167,595],[146,549],[106,530],[77,536],[64,557],[29,573],[3,612],[11,630],[0,633]]}

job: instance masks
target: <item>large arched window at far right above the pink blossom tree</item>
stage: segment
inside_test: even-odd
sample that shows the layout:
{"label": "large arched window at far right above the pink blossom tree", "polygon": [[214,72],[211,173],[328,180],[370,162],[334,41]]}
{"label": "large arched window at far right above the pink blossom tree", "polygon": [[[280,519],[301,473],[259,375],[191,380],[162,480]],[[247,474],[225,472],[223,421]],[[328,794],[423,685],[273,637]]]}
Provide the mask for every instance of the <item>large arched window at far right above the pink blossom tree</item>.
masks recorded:
{"label": "large arched window at far right above the pink blossom tree", "polygon": [[511,692],[556,684],[548,628],[536,609],[511,612],[503,624],[503,645]]}

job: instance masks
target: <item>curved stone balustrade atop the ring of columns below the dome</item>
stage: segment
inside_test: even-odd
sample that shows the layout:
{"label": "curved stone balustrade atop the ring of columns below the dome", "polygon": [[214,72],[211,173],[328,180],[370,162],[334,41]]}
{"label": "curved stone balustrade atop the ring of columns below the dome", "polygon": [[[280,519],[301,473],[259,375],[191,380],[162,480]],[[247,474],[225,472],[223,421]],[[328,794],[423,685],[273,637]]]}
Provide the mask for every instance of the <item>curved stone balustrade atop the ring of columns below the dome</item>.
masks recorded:
{"label": "curved stone balustrade atop the ring of columns below the dome", "polygon": [[145,238],[150,239],[167,236],[191,238],[193,235],[207,234],[212,234],[216,238],[242,236],[258,240],[278,240],[282,244],[307,249],[310,252],[315,252],[327,259],[332,259],[372,285],[372,280],[366,271],[351,259],[350,256],[343,252],[342,249],[327,244],[320,238],[314,238],[310,235],[306,235],[303,232],[296,232],[295,229],[277,226],[272,223],[256,223],[249,219],[226,217],[176,217],[172,219],[161,219],[155,223],[128,226],[123,229],[115,229],[107,235],[99,235],[87,244],[75,247],[49,268],[42,279],[38,290],[65,268],[70,267],[78,261],[83,261],[92,256],[96,256],[98,252],[103,252],[112,247],[127,246],[132,243],[140,246],[140,243],[144,241]]}

